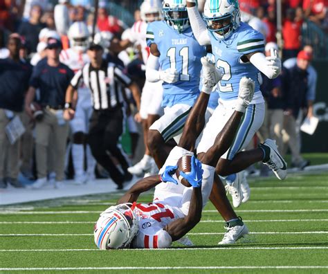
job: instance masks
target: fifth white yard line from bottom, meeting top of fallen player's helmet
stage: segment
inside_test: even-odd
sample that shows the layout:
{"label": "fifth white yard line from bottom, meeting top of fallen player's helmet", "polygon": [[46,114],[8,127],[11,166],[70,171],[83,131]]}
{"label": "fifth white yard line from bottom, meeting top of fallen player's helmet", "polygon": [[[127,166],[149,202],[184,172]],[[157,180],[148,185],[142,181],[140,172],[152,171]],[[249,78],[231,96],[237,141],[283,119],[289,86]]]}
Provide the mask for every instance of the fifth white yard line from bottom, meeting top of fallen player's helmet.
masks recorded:
{"label": "fifth white yard line from bottom, meeting top of fallen player's helmet", "polygon": [[[217,210],[203,210],[203,212],[217,212]],[[298,209],[298,210],[237,210],[237,212],[328,212],[328,209]],[[98,213],[101,211],[98,210],[77,210],[77,211],[12,211],[12,210],[4,210],[0,211],[0,214],[90,214],[90,213]]]}

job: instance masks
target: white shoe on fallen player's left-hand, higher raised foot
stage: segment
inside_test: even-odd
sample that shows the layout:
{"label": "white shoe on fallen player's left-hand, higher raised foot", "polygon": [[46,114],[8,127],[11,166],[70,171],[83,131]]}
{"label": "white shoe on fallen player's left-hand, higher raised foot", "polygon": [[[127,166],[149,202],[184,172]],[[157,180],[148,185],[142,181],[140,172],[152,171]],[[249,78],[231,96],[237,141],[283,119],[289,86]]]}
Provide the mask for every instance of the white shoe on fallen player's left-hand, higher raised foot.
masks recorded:
{"label": "white shoe on fallen player's left-hand, higher raised foot", "polygon": [[201,64],[203,65],[203,89],[202,91],[210,94],[217,82],[221,80],[222,73],[218,71],[215,64],[208,57],[201,57]]}

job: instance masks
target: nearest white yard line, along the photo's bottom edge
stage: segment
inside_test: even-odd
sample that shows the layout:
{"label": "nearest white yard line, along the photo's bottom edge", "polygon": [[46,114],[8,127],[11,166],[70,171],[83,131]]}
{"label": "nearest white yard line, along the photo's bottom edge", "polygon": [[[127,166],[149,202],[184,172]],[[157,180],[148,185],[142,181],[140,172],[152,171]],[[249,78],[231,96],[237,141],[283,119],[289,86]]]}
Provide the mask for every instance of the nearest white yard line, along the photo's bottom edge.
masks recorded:
{"label": "nearest white yard line, along the photo's bottom edge", "polygon": [[109,267],[20,267],[0,271],[82,271],[82,270],[179,270],[179,269],[326,269],[328,266],[109,266]]}

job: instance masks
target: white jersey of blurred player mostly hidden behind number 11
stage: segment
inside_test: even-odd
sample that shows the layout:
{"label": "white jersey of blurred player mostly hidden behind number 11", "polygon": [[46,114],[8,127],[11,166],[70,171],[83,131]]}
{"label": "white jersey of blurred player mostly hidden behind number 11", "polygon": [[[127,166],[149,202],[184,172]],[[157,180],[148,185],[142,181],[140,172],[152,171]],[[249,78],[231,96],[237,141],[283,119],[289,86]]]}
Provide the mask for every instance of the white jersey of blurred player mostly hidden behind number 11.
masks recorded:
{"label": "white jersey of blurred player mostly hidden behind number 11", "polygon": [[150,49],[146,42],[147,26],[148,24],[145,21],[136,21],[131,27],[131,37],[129,37],[131,43],[141,46],[144,64],[147,63],[150,54]]}

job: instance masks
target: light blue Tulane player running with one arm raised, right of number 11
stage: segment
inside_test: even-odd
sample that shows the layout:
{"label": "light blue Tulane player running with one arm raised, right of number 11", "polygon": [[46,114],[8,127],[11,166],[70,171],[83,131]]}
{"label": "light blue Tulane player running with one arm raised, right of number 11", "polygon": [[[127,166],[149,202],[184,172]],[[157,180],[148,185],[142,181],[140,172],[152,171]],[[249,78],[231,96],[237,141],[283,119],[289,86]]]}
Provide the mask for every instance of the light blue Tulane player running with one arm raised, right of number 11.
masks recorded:
{"label": "light blue Tulane player running with one arm raised, right of number 11", "polygon": [[226,119],[233,113],[239,100],[240,79],[248,77],[255,82],[253,100],[239,125],[233,145],[221,156],[216,168],[219,175],[226,177],[228,191],[233,196],[233,205],[238,207],[249,199],[250,189],[242,173],[249,165],[263,161],[271,167],[278,179],[286,177],[286,162],[277,152],[274,140],[267,139],[257,149],[242,152],[261,127],[265,115],[264,99],[259,91],[259,72],[275,78],[280,74],[281,61],[275,52],[271,57],[265,57],[264,37],[240,21],[237,0],[206,0],[203,19],[196,2],[187,1],[192,31],[199,44],[212,46],[217,69],[224,74],[219,82],[219,106],[203,131],[197,153],[208,150]]}

